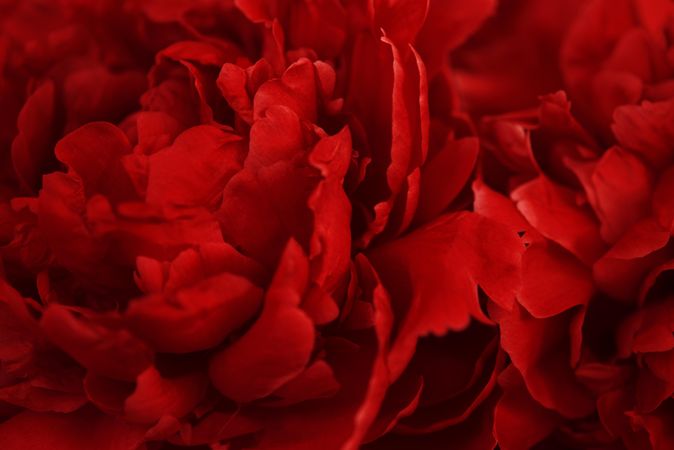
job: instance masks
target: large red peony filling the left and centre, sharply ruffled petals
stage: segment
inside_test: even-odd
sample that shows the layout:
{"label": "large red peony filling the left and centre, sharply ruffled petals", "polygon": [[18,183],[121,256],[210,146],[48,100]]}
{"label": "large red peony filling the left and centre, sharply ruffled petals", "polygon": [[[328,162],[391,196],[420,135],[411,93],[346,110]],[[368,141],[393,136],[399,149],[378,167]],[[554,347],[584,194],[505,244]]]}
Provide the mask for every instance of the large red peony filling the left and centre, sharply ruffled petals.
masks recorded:
{"label": "large red peony filling the left and centre, sharply ruffled petals", "polygon": [[0,447],[493,445],[523,247],[443,61],[492,4],[446,6],[8,5]]}

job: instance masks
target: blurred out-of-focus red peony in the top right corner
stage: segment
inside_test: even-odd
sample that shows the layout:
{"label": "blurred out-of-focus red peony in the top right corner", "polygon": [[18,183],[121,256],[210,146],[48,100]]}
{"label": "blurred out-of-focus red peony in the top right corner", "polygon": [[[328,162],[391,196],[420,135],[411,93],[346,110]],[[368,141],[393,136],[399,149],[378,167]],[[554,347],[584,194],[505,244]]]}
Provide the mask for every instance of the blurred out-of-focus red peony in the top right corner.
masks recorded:
{"label": "blurred out-of-focus red peony in the top right corner", "polygon": [[564,42],[561,68],[578,114],[611,140],[616,108],[670,98],[669,1],[591,1]]}

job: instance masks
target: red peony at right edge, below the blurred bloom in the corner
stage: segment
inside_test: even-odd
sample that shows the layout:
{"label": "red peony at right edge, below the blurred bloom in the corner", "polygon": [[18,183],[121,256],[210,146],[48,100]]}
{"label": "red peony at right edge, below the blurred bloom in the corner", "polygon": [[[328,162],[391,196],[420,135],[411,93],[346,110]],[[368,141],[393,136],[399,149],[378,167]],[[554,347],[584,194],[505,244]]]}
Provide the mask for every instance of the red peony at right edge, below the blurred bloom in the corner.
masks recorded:
{"label": "red peony at right edge, below the blurred bloom in the corner", "polygon": [[502,448],[671,445],[669,103],[616,108],[608,148],[563,92],[483,120],[476,211],[527,241],[519,305],[492,312]]}

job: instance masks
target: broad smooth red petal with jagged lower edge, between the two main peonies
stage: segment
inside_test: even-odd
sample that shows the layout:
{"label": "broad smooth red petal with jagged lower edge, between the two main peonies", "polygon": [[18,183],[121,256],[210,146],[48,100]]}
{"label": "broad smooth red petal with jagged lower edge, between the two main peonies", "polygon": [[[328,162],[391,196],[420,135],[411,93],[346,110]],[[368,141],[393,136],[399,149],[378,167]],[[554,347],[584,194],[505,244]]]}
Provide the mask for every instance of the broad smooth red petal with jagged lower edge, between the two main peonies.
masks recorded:
{"label": "broad smooth red petal with jagged lower edge, between the two main peonies", "polygon": [[370,259],[392,294],[394,309],[406,312],[389,360],[391,371],[402,371],[420,336],[461,330],[471,314],[484,319],[478,285],[510,308],[523,249],[516,233],[472,213],[443,216],[375,248]]}

